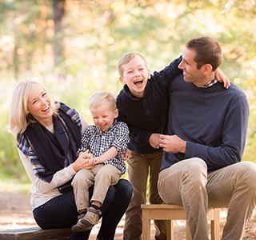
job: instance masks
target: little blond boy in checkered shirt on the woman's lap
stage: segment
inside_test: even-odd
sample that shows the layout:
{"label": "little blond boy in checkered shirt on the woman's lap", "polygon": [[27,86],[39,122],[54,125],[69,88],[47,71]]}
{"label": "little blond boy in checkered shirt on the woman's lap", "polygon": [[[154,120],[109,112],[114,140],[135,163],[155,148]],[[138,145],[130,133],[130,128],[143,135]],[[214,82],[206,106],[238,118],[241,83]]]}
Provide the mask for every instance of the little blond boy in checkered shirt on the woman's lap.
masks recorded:
{"label": "little blond boy in checkered shirt on the woman's lap", "polygon": [[[81,214],[72,227],[74,232],[90,230],[98,223],[109,186],[115,185],[126,172],[122,158],[129,142],[129,129],[126,123],[115,120],[118,117],[116,98],[100,90],[90,96],[89,108],[95,125],[87,126],[78,154],[83,154],[91,168],[79,170],[72,181],[76,206]],[[89,207],[88,189],[93,185]]]}

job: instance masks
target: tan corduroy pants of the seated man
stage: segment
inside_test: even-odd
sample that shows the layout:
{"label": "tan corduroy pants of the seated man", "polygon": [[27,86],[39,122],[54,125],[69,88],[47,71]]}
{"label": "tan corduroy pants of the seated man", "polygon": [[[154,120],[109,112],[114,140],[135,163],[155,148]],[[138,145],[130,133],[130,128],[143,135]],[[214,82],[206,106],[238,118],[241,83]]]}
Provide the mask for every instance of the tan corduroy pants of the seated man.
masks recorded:
{"label": "tan corduroy pants of the seated man", "polygon": [[158,189],[167,204],[184,206],[192,239],[209,239],[209,205],[229,208],[222,239],[241,240],[256,204],[256,164],[238,162],[207,174],[202,159],[186,159],[160,172]]}

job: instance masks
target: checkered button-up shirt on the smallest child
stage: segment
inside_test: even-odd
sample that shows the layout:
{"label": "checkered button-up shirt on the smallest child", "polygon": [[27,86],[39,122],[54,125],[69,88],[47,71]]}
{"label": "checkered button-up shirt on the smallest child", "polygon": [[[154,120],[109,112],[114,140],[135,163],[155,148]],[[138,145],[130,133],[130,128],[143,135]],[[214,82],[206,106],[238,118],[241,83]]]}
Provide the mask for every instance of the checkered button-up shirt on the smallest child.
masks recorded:
{"label": "checkered button-up shirt on the smallest child", "polygon": [[117,167],[121,174],[125,174],[126,163],[123,162],[122,158],[129,141],[129,128],[124,122],[115,120],[105,133],[102,133],[98,126],[90,125],[86,127],[85,132],[82,134],[82,146],[78,149],[78,153],[89,150],[94,157],[99,157],[109,150],[111,146],[115,146],[118,150],[118,155],[103,163],[111,164]]}

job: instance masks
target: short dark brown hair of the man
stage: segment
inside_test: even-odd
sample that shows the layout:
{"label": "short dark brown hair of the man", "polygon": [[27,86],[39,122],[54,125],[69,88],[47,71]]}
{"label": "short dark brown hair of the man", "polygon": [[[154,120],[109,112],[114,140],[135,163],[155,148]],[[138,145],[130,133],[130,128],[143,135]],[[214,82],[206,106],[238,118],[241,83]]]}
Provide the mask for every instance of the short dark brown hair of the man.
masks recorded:
{"label": "short dark brown hair of the man", "polygon": [[210,64],[213,71],[222,64],[222,48],[218,42],[212,38],[199,37],[192,38],[186,42],[186,48],[196,52],[194,62],[197,63],[198,70],[205,64]]}

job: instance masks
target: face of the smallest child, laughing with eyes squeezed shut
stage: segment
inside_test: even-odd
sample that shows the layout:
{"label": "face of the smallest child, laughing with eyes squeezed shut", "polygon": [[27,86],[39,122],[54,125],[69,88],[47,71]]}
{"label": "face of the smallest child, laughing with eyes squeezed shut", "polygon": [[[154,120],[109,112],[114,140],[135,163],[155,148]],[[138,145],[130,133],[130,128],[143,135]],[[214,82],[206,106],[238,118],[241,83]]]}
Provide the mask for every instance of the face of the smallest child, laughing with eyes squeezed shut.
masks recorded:
{"label": "face of the smallest child, laughing with eyes squeezed shut", "polygon": [[91,108],[94,124],[98,126],[104,133],[114,122],[114,118],[118,118],[118,109],[111,110],[110,104],[105,103],[98,108]]}

